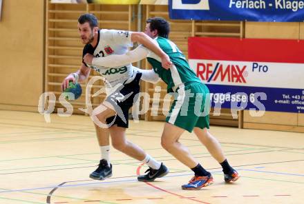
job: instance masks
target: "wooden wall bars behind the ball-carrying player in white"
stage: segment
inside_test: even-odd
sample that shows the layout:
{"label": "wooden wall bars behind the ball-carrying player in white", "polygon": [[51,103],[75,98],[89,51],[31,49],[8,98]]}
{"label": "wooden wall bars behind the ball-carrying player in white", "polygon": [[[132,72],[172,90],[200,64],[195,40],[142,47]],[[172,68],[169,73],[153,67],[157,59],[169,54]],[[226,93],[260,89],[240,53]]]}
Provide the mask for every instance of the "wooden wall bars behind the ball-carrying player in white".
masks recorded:
{"label": "wooden wall bars behind the ball-carrying player in white", "polygon": [[[46,0],[48,1],[48,0]],[[82,63],[84,45],[79,40],[77,19],[81,14],[93,13],[99,19],[99,28],[117,30],[135,30],[136,7],[131,5],[101,4],[62,4],[47,3],[46,32],[46,90],[54,92],[59,99],[61,81],[70,73],[76,72]],[[91,77],[98,76],[95,71]],[[101,81],[94,83],[92,93],[103,87]],[[71,103],[74,108],[85,107],[85,88],[82,84],[82,96]],[[91,98],[93,107],[99,105],[104,95]],[[61,108],[57,101],[57,108]],[[83,112],[77,112],[82,113]]]}

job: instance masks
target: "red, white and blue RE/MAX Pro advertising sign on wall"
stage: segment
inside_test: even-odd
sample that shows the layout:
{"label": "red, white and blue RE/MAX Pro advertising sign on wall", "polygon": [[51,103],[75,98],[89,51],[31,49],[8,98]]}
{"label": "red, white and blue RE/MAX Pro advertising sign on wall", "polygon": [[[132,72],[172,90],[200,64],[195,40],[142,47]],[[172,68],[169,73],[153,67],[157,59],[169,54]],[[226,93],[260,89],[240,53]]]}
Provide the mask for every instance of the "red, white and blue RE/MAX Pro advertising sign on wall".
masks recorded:
{"label": "red, white and blue RE/MAX Pro advertising sign on wall", "polygon": [[188,52],[213,107],[304,112],[304,41],[191,37]]}

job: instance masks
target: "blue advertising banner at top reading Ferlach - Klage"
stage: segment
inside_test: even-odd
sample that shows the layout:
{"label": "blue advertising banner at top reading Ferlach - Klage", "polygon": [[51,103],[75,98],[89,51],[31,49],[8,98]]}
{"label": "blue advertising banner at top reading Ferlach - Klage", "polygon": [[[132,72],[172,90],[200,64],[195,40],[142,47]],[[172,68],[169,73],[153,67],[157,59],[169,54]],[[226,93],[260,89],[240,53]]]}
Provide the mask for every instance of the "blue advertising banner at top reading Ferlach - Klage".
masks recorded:
{"label": "blue advertising banner at top reading Ferlach - Klage", "polygon": [[303,22],[304,0],[169,0],[171,19]]}

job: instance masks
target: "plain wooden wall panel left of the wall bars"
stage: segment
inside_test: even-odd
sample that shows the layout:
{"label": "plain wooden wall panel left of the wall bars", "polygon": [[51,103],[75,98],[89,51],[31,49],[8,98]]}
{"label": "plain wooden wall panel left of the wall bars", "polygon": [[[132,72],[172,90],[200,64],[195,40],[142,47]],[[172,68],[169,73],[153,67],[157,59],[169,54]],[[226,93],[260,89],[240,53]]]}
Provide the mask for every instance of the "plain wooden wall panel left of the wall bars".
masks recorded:
{"label": "plain wooden wall panel left of the wall bars", "polygon": [[0,108],[37,107],[43,91],[44,1],[3,1],[0,36]]}

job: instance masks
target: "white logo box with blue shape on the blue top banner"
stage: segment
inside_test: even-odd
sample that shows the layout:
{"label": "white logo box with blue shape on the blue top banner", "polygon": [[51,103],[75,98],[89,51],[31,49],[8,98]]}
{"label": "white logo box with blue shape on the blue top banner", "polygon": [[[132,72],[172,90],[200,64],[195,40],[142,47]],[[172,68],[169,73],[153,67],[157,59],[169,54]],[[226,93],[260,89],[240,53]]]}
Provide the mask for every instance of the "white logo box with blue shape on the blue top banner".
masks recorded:
{"label": "white logo box with blue shape on the blue top banner", "polygon": [[209,10],[209,0],[172,0],[172,9]]}

